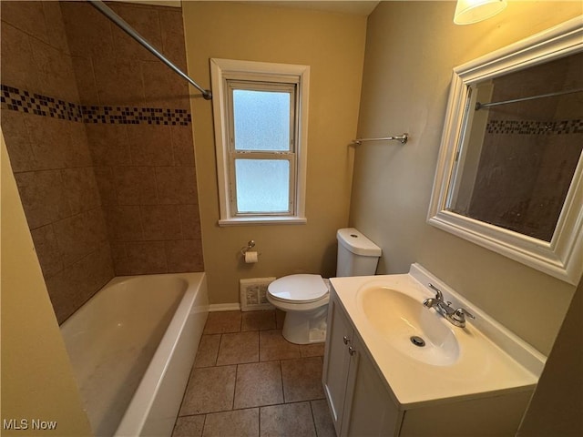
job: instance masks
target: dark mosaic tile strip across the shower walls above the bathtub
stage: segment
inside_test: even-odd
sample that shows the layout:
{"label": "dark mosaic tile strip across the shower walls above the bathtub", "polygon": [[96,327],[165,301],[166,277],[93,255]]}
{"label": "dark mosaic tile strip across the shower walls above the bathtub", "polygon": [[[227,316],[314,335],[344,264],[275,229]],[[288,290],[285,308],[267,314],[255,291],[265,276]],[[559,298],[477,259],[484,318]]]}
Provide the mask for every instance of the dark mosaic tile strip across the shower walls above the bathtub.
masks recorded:
{"label": "dark mosaic tile strip across the shower walls above the bathtub", "polygon": [[192,122],[186,109],[78,105],[4,84],[0,85],[0,104],[12,111],[92,124],[188,126]]}

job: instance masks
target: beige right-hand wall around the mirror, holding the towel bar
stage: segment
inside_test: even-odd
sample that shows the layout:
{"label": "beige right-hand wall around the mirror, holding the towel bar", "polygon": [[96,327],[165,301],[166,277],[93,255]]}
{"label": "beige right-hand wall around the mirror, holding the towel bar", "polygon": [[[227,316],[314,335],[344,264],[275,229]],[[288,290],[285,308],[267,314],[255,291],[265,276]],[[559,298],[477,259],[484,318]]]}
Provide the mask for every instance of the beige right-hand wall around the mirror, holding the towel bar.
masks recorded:
{"label": "beige right-hand wall around the mirror, holding the towel bar", "polygon": [[381,2],[369,16],[359,134],[411,140],[358,147],[351,225],[383,248],[379,273],[421,263],[539,351],[548,353],[575,287],[425,220],[452,68],[581,14],[579,2],[509,2],[454,25],[455,2]]}

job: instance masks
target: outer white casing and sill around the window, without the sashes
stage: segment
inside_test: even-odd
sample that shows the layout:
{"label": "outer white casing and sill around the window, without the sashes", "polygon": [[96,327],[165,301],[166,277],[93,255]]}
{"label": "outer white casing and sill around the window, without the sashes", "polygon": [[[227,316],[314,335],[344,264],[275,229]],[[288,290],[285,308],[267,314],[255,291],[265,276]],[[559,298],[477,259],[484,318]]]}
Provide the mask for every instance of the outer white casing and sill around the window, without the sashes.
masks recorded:
{"label": "outer white casing and sill around the window, without the sashes", "polygon": [[[272,64],[265,62],[240,61],[232,59],[210,59],[210,78],[213,96],[213,119],[215,127],[215,148],[217,154],[217,178],[219,184],[219,225],[280,224],[286,222],[305,223],[305,194],[308,155],[308,107],[310,89],[310,66]],[[293,83],[298,86],[296,102],[298,132],[296,132],[297,165],[295,175],[294,212],[288,216],[235,217],[230,205],[229,177],[229,137],[228,108],[223,102],[228,93],[225,78],[270,80]],[[281,219],[283,218],[283,219]]]}

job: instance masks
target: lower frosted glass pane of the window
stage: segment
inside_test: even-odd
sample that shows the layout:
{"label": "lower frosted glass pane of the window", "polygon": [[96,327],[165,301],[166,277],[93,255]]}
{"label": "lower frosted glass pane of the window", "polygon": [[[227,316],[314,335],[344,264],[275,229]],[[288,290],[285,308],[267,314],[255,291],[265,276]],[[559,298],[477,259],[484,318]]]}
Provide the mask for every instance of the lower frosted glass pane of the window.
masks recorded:
{"label": "lower frosted glass pane of the window", "polygon": [[236,159],[238,212],[288,212],[290,162]]}

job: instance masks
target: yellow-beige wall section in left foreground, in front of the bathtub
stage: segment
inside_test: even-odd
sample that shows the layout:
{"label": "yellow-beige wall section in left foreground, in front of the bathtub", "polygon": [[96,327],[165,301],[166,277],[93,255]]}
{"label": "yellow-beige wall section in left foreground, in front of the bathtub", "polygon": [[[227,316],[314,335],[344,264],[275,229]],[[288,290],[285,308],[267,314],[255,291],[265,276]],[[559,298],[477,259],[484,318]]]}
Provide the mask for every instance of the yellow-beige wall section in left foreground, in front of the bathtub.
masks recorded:
{"label": "yellow-beige wall section in left foreground, in front of the bathtub", "polygon": [[[2,435],[90,435],[65,345],[2,143],[2,417],[28,429]],[[56,421],[53,432],[33,420]]]}

